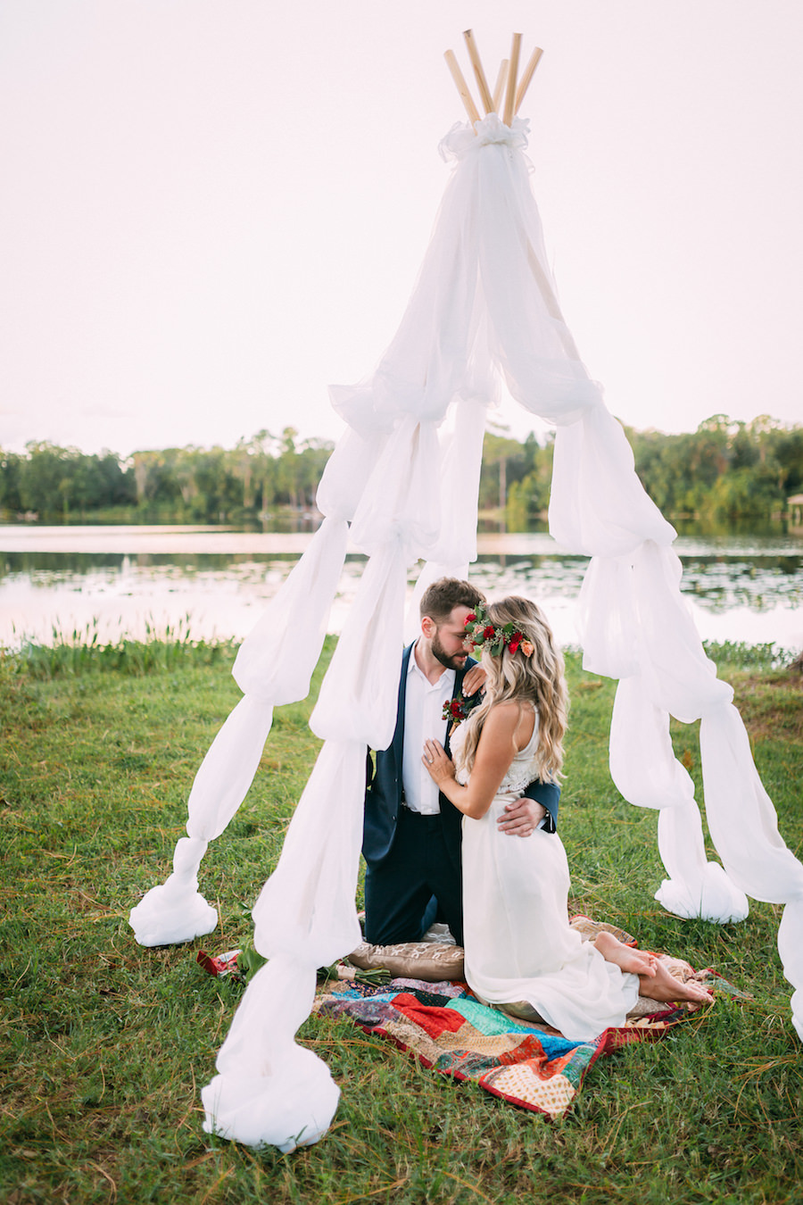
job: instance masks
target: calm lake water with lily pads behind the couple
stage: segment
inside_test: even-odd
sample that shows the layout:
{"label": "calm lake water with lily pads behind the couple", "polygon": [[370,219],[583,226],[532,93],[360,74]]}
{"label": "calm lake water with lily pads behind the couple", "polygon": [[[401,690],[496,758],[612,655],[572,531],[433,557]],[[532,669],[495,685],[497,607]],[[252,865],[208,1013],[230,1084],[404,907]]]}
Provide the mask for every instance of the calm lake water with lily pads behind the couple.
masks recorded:
{"label": "calm lake water with lily pads behind the couple", "polygon": [[[0,645],[95,627],[102,641],[189,623],[190,635],[241,640],[309,534],[199,527],[0,525]],[[803,647],[803,536],[679,536],[683,589],[704,640]],[[489,598],[522,593],[562,643],[577,643],[574,604],[588,558],[551,536],[484,534],[471,577]],[[339,631],[365,558],[349,556],[332,607]],[[411,588],[412,588],[411,577]],[[187,618],[189,617],[189,618]]]}

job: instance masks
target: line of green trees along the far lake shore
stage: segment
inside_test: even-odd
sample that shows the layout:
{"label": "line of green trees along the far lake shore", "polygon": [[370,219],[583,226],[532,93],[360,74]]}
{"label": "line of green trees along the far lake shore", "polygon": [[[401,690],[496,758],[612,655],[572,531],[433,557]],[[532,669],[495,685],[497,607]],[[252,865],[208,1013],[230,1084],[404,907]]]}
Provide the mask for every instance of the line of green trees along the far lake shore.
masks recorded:
{"label": "line of green trees along the far lake shore", "polygon": [[[715,415],[696,431],[665,435],[625,428],[636,470],[671,519],[768,522],[803,492],[803,427],[763,415],[750,423]],[[553,436],[485,434],[479,509],[526,530],[549,505]],[[277,510],[314,510],[332,451],[325,440],[262,430],[234,448],[165,448],[120,458],[31,442],[0,449],[0,513],[5,521],[241,522]]]}

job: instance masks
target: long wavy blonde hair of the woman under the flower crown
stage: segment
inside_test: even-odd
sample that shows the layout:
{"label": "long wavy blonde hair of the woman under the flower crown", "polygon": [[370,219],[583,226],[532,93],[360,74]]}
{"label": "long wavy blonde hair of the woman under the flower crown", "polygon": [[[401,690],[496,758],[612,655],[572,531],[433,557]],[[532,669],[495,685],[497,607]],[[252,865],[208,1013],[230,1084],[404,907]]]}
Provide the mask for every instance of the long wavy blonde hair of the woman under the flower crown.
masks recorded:
{"label": "long wavy blonde hair of the woman under the flower crown", "polygon": [[497,657],[488,648],[483,649],[482,664],[488,675],[485,699],[466,721],[460,768],[471,771],[491,707],[507,701],[530,701],[536,707],[538,724],[538,772],[544,781],[557,782],[563,765],[563,734],[568,715],[562,653],[555,646],[542,611],[530,599],[512,595],[491,602],[486,615],[497,630],[506,623],[513,623],[530,641],[533,653],[525,657],[521,647],[512,653],[507,645]]}

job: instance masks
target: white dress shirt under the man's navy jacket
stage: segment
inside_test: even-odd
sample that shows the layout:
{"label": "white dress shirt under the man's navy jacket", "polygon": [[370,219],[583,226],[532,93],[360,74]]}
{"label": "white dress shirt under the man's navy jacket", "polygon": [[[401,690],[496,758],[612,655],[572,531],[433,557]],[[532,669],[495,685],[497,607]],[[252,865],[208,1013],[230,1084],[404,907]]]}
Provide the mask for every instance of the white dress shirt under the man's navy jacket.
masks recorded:
{"label": "white dress shirt under the man's navy jacket", "polygon": [[405,803],[413,812],[437,816],[441,811],[438,788],[424,765],[424,741],[445,743],[447,721],[443,704],[451,699],[455,671],[444,668],[432,684],[418,668],[415,647],[411,649],[407,665],[407,693],[405,696],[405,741],[402,748],[402,786]]}

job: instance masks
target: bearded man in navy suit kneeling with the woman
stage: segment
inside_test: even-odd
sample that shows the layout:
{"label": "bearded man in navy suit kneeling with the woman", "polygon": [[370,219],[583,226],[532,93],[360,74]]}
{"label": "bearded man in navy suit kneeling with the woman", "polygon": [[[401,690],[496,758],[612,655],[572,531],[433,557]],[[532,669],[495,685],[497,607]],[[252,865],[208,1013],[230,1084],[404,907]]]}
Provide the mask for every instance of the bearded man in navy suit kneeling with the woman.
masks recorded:
{"label": "bearded man in navy suit kneeling with the woman", "polygon": [[[396,730],[389,748],[377,752],[376,770],[370,765],[365,798],[365,940],[372,945],[419,941],[436,917],[433,899],[438,919],[462,945],[462,817],[426,772],[421,750],[432,737],[448,753],[453,723],[445,712],[450,705],[467,712],[478,700],[478,693],[462,694],[477,664],[467,653],[465,624],[483,601],[468,582],[433,582],[421,598],[421,634],[402,656]],[[474,677],[470,688],[478,692],[482,677]],[[543,823],[554,831],[559,798],[553,783],[531,783],[524,799],[507,805],[500,829],[526,837]]]}

